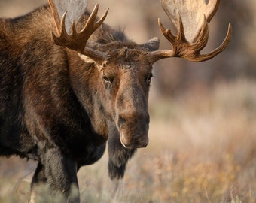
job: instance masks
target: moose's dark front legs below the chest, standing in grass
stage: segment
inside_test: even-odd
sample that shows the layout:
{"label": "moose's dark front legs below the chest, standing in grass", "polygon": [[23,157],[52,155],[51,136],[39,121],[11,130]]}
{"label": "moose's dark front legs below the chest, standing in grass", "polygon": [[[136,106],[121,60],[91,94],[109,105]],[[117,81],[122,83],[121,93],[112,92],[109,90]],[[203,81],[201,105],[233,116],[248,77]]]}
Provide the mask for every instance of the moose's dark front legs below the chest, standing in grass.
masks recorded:
{"label": "moose's dark front legs below the chest, standing in grass", "polygon": [[69,199],[69,202],[80,202],[79,195],[70,195],[72,184],[78,187],[77,164],[74,160],[64,156],[57,149],[48,149],[41,157],[42,163],[38,163],[31,183],[31,197],[29,203],[36,199],[36,189],[40,183],[47,183],[50,186],[50,195],[61,192]]}

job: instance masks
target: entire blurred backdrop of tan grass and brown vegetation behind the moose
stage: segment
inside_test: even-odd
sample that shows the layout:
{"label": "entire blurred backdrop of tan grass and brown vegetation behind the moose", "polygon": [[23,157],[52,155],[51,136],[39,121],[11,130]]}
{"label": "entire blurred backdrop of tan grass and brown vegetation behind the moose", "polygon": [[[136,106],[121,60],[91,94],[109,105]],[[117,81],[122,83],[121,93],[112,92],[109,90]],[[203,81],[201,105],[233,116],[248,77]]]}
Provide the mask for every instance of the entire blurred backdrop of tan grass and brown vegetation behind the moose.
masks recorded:
{"label": "entire blurred backdrop of tan grass and brown vegetation behind the moose", "polygon": [[[157,18],[172,26],[160,0],[88,0],[105,23],[125,29],[138,43],[160,38]],[[45,0],[0,0],[1,17],[17,17]],[[78,176],[83,202],[256,202],[256,2],[221,0],[210,23],[209,44],[218,47],[232,23],[223,53],[207,62],[164,59],[154,65],[151,143],[131,160],[115,198],[107,156]],[[0,202],[29,195],[34,162],[0,159]],[[28,181],[26,181],[28,180]],[[25,201],[24,201],[25,202]]]}

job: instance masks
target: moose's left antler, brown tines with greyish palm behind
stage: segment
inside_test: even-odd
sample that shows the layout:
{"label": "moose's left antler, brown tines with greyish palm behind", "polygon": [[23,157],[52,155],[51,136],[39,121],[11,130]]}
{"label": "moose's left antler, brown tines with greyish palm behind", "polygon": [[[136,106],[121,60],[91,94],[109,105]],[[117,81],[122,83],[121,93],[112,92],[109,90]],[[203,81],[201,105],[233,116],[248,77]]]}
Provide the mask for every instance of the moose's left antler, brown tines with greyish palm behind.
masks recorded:
{"label": "moose's left antler, brown tines with greyish palm behind", "polygon": [[[62,1],[62,2],[65,2],[65,1]],[[69,1],[69,2],[72,2],[72,1]],[[75,2],[78,4],[79,1],[75,1]],[[80,1],[80,2],[84,2],[84,1]],[[102,16],[102,18],[96,21],[98,9],[99,9],[99,5],[96,4],[84,28],[81,29],[80,32],[77,32],[75,27],[75,20],[78,21],[79,18],[81,17],[81,14],[77,14],[77,15],[74,14],[72,16],[73,17],[72,21],[68,20],[68,22],[66,22],[66,15],[67,15],[67,12],[69,11],[65,11],[65,13],[62,15],[62,19],[60,20],[59,16],[61,16],[61,12],[63,12],[62,7],[66,6],[67,7],[66,9],[69,10],[70,5],[62,5],[61,2],[59,3],[59,5],[55,5],[53,3],[53,0],[49,0],[49,3],[50,3],[51,10],[53,12],[53,18],[56,24],[56,32],[59,35],[59,36],[56,36],[54,33],[52,33],[52,39],[56,45],[68,47],[71,50],[75,50],[78,53],[89,56],[90,58],[99,62],[103,62],[108,59],[108,55],[106,53],[101,52],[99,50],[94,50],[90,47],[86,47],[87,41],[90,38],[90,36],[93,34],[93,32],[96,31],[96,29],[99,28],[100,25],[102,25],[103,21],[105,20],[105,17],[108,14],[108,10],[105,11],[105,14]],[[84,5],[86,8],[87,4],[84,4]],[[79,8],[79,6],[76,5],[75,8]],[[70,25],[70,23],[72,25]],[[70,27],[71,29],[70,35],[68,34],[69,29],[68,31],[66,30],[67,27],[68,28]]]}

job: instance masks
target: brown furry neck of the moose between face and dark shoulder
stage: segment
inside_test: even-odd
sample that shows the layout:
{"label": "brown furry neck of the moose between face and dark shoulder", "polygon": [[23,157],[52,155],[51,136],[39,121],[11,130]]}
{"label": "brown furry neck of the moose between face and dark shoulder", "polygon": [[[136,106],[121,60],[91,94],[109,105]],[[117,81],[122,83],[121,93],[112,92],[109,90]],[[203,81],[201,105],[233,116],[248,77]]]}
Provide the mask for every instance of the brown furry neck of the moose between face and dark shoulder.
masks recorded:
{"label": "brown furry neck of the moose between face and dark shoulder", "polygon": [[84,62],[78,53],[68,50],[69,78],[78,101],[90,116],[93,131],[108,138],[107,121],[102,107],[99,71],[94,64]]}

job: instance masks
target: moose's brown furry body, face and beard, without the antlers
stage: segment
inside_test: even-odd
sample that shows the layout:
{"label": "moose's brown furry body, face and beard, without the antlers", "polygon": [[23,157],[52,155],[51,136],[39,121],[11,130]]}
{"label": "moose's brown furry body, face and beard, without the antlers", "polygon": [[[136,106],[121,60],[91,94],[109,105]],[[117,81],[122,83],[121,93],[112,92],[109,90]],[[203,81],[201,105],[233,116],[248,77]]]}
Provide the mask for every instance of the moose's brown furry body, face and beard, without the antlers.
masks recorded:
{"label": "moose's brown furry body, face and beard, without the antlers", "polygon": [[[103,73],[75,51],[53,44],[48,6],[1,20],[0,28],[0,156],[38,161],[32,192],[38,183],[48,183],[53,191],[68,194],[72,183],[78,186],[78,169],[100,159],[109,140],[109,175],[113,180],[123,177],[142,141],[133,136],[148,132],[149,88],[144,80],[151,65],[142,46],[103,24],[90,39],[105,44],[102,51],[111,55]],[[126,72],[130,77],[122,76]],[[104,83],[102,74],[114,75],[114,82]],[[135,147],[120,143],[120,126]]]}

